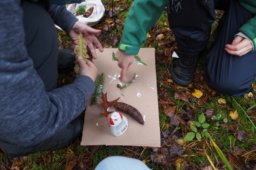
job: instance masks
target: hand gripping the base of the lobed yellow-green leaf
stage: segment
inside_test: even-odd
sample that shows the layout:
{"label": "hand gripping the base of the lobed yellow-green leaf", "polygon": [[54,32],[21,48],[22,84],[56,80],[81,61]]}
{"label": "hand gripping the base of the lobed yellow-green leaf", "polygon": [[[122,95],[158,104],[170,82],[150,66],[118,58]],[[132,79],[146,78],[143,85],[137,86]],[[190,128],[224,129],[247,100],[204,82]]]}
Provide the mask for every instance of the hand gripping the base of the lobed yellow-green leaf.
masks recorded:
{"label": "hand gripping the base of the lobed yellow-green leaf", "polygon": [[80,66],[79,75],[86,75],[95,81],[98,73],[97,67],[90,60],[87,60],[87,63],[85,63],[81,56],[77,59]]}

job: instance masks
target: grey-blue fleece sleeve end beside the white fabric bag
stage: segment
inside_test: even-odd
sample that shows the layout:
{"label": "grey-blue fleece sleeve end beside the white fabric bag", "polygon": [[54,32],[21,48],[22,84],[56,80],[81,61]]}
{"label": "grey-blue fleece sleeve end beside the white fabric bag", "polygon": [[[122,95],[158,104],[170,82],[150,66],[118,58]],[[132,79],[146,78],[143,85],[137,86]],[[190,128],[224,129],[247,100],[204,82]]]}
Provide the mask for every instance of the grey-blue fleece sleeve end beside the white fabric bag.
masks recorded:
{"label": "grey-blue fleece sleeve end beside the white fabric bag", "polygon": [[65,5],[58,6],[51,4],[49,13],[54,23],[67,33],[73,27],[74,23],[78,21],[78,19],[67,10]]}

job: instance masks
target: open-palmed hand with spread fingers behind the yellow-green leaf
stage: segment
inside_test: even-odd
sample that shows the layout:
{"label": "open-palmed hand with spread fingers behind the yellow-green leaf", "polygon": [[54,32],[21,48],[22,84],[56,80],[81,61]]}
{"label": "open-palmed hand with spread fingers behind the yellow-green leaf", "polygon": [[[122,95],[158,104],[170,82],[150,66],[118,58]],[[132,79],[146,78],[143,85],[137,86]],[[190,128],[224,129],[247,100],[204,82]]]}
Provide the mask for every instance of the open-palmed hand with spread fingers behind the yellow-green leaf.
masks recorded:
{"label": "open-palmed hand with spread fingers behind the yellow-green leaf", "polygon": [[[101,33],[101,30],[93,29],[80,21],[75,22],[73,27],[68,33],[70,38],[73,40],[75,44],[75,49],[78,47],[77,37],[80,34],[79,32],[80,30],[81,30],[81,33],[83,34],[83,38],[85,39],[85,43],[88,45],[89,49],[91,50],[93,59],[97,59],[97,55],[92,42],[99,48],[100,52],[103,52],[102,45],[100,44],[99,40],[94,36],[96,34]],[[74,53],[76,54],[76,50],[74,50]]]}

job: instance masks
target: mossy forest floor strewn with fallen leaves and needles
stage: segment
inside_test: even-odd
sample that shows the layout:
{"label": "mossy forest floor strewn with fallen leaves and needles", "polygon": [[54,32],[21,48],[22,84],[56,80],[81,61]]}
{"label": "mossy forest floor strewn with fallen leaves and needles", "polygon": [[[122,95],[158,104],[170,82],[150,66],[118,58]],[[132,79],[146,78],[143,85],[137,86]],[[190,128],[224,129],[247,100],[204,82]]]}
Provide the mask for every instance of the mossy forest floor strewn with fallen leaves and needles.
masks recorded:
{"label": "mossy forest floor strewn with fallen leaves and needles", "polygon": [[[123,25],[132,5],[132,0],[114,2],[102,1],[105,15],[93,28],[101,29],[96,35],[103,48],[117,48],[121,40]],[[110,10],[109,10],[110,9]],[[223,11],[216,10],[216,21],[212,30],[218,25]],[[60,30],[59,49],[73,48],[71,38]],[[172,81],[170,63],[172,53],[177,49],[173,32],[169,29],[167,10],[157,24],[149,31],[144,48],[155,48],[159,123],[161,130],[161,148],[136,146],[80,146],[81,138],[69,147],[57,151],[41,151],[20,158],[6,156],[0,147],[0,170],[86,170],[94,169],[97,164],[109,156],[127,156],[143,161],[151,169],[213,169],[209,160],[217,169],[227,169],[208,135],[225,154],[233,169],[249,170],[256,168],[256,108],[255,81],[251,93],[232,97],[219,94],[207,85],[203,65],[211,43],[200,54],[197,71],[193,82],[188,86],[179,86]],[[76,74],[73,68],[59,70],[58,87],[70,84]],[[194,93],[194,95],[193,95]],[[198,98],[194,97],[197,96]],[[249,110],[248,110],[249,109]],[[209,124],[206,130],[197,127],[197,138],[185,141],[184,137],[193,132],[194,123],[201,121],[204,113]],[[82,116],[84,112],[82,113]],[[192,125],[193,127],[191,127]],[[196,132],[194,129],[194,131]],[[199,141],[199,140],[200,141]],[[209,159],[207,158],[207,155]]]}

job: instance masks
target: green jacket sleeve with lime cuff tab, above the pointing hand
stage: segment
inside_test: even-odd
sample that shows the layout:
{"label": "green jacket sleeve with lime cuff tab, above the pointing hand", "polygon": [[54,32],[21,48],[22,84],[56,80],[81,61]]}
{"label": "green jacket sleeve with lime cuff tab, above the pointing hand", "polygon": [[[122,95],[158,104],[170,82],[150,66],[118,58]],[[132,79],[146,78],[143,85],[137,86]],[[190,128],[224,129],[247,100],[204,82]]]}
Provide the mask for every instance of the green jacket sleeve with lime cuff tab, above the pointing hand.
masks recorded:
{"label": "green jacket sleeve with lime cuff tab, above the pointing hand", "polygon": [[118,48],[127,55],[138,54],[148,31],[158,21],[166,5],[167,0],[135,0],[126,17]]}

